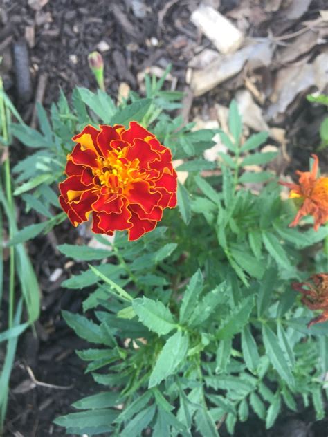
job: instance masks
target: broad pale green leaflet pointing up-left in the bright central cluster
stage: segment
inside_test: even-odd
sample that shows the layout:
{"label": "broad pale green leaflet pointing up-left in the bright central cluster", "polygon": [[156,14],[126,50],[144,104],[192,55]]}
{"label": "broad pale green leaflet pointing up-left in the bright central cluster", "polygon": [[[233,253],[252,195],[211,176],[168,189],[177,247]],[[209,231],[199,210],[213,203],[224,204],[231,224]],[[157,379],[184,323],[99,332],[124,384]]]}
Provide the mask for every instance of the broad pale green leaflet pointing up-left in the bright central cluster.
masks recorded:
{"label": "broad pale green leaflet pointing up-left in the bright central cluster", "polygon": [[149,331],[165,335],[176,328],[170,310],[161,301],[154,301],[144,296],[143,299],[134,299],[132,306],[140,322],[147,326]]}

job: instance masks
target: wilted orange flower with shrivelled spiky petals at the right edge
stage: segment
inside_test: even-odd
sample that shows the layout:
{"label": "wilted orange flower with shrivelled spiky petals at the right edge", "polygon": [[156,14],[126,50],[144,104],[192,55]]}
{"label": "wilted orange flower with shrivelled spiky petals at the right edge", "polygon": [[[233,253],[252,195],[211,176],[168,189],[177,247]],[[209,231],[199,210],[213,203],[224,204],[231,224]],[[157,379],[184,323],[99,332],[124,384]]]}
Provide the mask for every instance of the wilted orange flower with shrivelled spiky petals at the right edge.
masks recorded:
{"label": "wilted orange flower with shrivelled spiky petals at the right edge", "polygon": [[314,158],[311,171],[296,171],[300,176],[298,184],[280,182],[281,185],[291,188],[289,198],[298,198],[302,202],[298,214],[289,226],[296,226],[300,219],[307,214],[314,218],[314,229],[328,221],[328,178],[317,178],[319,160]]}

